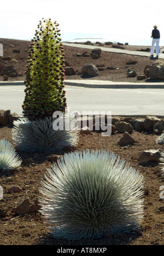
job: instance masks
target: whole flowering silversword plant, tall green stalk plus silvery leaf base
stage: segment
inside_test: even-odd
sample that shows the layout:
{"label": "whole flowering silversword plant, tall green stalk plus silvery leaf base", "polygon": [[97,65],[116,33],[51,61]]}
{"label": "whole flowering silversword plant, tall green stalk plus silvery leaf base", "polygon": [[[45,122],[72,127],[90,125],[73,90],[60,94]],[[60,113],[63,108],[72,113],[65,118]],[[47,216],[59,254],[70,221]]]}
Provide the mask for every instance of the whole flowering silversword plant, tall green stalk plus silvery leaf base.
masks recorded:
{"label": "whole flowering silversword plant, tall green stalk plus silvery leaf base", "polygon": [[40,21],[26,68],[24,117],[14,122],[13,140],[20,150],[62,150],[74,146],[77,132],[53,129],[53,113],[65,114],[65,53],[57,22]]}

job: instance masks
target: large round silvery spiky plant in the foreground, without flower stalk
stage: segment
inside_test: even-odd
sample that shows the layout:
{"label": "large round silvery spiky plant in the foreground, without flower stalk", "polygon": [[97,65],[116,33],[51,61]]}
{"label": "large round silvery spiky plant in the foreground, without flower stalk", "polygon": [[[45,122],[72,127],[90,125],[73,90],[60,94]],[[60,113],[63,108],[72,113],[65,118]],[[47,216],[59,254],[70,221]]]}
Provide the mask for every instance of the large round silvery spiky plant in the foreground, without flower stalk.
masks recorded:
{"label": "large round silvery spiky plant in the foreground, without flower stalk", "polygon": [[40,212],[54,237],[99,238],[140,225],[144,178],[116,158],[112,152],[87,150],[65,154],[48,169]]}

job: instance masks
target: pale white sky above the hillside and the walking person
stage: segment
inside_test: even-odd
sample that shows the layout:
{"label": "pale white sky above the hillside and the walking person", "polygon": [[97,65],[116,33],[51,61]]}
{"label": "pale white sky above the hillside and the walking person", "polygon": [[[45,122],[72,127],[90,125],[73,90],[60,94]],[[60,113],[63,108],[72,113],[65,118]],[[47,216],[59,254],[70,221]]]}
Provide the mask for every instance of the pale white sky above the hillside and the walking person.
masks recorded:
{"label": "pale white sky above the hillside and the walking person", "polygon": [[[136,3],[135,3],[136,2]],[[164,45],[164,1],[150,0],[6,0],[1,3],[0,38],[34,37],[42,18],[60,24],[63,41],[96,37],[120,43],[151,45],[156,24]]]}

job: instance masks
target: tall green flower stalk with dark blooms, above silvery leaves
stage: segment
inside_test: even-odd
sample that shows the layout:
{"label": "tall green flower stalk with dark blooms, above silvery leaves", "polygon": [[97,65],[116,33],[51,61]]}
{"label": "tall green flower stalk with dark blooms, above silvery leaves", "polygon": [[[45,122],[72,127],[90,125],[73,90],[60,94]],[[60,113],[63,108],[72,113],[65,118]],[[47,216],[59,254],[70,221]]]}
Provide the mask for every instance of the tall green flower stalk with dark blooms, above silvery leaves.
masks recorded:
{"label": "tall green flower stalk with dark blooms, above silvery leaves", "polygon": [[52,117],[67,106],[65,97],[64,49],[57,22],[39,22],[32,39],[26,67],[23,113],[28,120]]}

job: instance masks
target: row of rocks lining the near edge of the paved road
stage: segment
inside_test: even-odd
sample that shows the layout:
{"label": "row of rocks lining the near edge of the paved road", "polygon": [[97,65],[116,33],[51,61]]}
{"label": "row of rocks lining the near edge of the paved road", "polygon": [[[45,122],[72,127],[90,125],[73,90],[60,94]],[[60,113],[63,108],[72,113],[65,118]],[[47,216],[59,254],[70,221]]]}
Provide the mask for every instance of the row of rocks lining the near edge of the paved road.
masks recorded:
{"label": "row of rocks lining the near edge of the paved road", "polygon": [[[10,110],[0,110],[0,125],[13,125],[13,122],[19,118],[20,115],[16,113],[11,114]],[[79,116],[77,117],[77,125],[80,127],[81,131],[92,130],[101,132],[101,121],[103,120],[104,125],[112,126],[112,133],[116,131],[120,133],[132,133],[133,130],[135,130],[139,132],[154,132],[156,135],[160,135],[164,131],[164,118],[158,118],[151,115],[140,118],[112,116],[112,122],[109,118],[110,117],[107,115],[98,117],[98,119],[95,116]],[[96,122],[99,120],[99,126],[95,124],[95,120]],[[92,127],[89,129],[91,125]]]}

